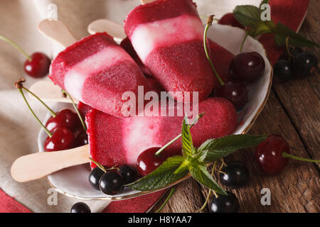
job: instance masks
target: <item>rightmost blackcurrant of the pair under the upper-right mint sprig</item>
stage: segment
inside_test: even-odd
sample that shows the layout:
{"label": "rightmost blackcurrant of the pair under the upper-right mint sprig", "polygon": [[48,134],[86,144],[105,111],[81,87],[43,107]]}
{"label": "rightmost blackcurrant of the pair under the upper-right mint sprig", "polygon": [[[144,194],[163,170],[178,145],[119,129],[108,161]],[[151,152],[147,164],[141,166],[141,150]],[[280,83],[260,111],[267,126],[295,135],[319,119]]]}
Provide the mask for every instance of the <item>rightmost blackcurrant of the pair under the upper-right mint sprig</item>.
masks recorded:
{"label": "rightmost blackcurrant of the pair under the upper-right mint sprig", "polygon": [[294,58],[292,66],[296,77],[306,77],[316,71],[318,59],[311,52],[304,51]]}

